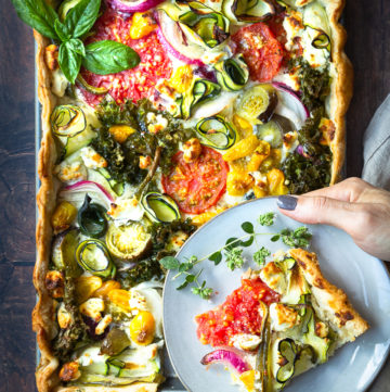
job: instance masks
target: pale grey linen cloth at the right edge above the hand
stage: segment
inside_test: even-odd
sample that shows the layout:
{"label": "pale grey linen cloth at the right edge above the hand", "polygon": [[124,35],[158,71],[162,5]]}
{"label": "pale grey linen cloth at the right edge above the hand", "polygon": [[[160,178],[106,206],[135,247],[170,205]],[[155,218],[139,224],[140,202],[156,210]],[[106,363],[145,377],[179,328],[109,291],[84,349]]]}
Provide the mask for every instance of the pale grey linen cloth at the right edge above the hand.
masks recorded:
{"label": "pale grey linen cloth at the right edge above the hand", "polygon": [[362,178],[390,191],[390,94],[375,112],[363,138]]}

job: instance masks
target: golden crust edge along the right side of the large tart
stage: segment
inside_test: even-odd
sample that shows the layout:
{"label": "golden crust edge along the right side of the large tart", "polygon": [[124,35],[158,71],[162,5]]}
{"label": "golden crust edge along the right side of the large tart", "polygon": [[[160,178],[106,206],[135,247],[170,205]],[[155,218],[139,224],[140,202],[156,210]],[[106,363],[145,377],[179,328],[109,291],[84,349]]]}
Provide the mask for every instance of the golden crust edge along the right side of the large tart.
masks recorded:
{"label": "golden crust edge along the right side of the large tart", "polygon": [[330,89],[330,117],[335,123],[335,137],[330,142],[333,152],[330,185],[341,179],[346,157],[346,114],[353,93],[353,67],[344,52],[347,31],[339,23],[346,0],[320,0],[329,16],[332,29],[332,59],[337,78]]}

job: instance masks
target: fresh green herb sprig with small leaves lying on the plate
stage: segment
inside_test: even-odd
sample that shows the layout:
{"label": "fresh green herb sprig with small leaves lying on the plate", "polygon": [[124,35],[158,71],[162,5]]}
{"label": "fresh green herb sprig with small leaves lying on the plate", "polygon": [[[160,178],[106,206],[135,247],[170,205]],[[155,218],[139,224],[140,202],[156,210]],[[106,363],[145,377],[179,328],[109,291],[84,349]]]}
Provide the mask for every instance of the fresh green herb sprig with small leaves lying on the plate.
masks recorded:
{"label": "fresh green herb sprig with small leaves lying on the plate", "polygon": [[[274,224],[275,217],[275,213],[266,213],[260,215],[258,222],[261,226],[272,226]],[[242,229],[244,230],[244,232],[246,232],[245,236],[242,236],[239,238],[229,238],[222,248],[207,256],[204,256],[202,258],[198,258],[197,256],[191,256],[184,263],[181,263],[178,258],[170,255],[161,258],[160,264],[165,269],[178,271],[178,274],[172,279],[177,279],[180,276],[185,277],[182,283],[177,288],[178,290],[183,290],[184,288],[193,283],[193,287],[191,288],[192,292],[196,295],[199,295],[202,299],[208,300],[212,295],[213,289],[208,288],[205,280],[202,284],[199,283],[199,277],[203,269],[200,269],[196,274],[191,273],[191,270],[196,265],[200,264],[206,260],[214,263],[214,265],[219,265],[224,260],[227,268],[234,270],[236,268],[240,268],[244,265],[244,248],[250,246],[252,242],[256,241],[256,237],[258,236],[272,236],[270,239],[272,242],[282,240],[287,246],[290,248],[307,248],[312,237],[308,228],[304,226],[299,227],[296,230],[285,228],[282,229],[280,232],[270,233],[257,232],[250,222],[244,222],[242,224]],[[271,251],[265,246],[261,246],[258,251],[253,253],[253,262],[260,267],[262,267],[266,262],[266,257],[269,257],[270,255]]]}

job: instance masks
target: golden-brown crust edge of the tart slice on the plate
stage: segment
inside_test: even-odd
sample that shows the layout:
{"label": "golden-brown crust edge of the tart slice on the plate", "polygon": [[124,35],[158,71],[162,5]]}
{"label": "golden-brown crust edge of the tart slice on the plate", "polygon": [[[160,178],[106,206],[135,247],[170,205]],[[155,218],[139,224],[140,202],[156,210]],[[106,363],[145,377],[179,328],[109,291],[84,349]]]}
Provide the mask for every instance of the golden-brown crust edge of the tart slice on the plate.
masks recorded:
{"label": "golden-brown crust edge of the tart slice on the plate", "polygon": [[347,294],[324,278],[315,253],[303,249],[292,249],[289,253],[311,287],[316,312],[336,328],[340,345],[364,333],[369,328],[367,321],[353,308]]}

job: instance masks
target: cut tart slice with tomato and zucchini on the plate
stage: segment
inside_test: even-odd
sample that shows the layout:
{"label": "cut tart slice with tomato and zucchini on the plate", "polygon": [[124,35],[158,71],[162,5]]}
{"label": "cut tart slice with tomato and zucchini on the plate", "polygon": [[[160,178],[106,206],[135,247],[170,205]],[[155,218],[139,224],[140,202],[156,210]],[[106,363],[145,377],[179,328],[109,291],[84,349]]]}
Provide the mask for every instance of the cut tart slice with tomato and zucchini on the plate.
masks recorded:
{"label": "cut tart slice with tomato and zucchini on the plate", "polygon": [[248,392],[282,390],[369,328],[323,277],[315,253],[302,249],[249,269],[224,303],[196,321],[200,342],[214,347],[202,364],[227,365]]}

